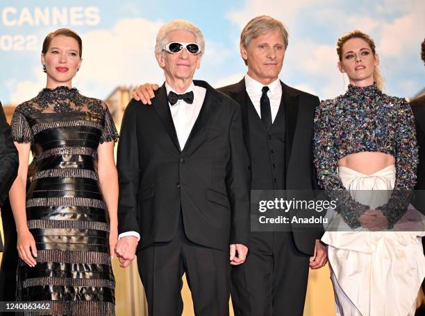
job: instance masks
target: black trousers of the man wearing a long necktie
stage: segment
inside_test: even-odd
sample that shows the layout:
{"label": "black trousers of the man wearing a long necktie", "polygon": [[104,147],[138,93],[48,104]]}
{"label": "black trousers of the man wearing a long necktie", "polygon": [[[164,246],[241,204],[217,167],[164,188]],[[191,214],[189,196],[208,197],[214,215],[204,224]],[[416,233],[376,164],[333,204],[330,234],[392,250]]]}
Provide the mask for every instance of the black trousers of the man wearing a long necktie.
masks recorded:
{"label": "black trousers of the man wearing a long necktie", "polygon": [[252,232],[249,256],[232,267],[235,316],[302,316],[309,256],[290,232]]}

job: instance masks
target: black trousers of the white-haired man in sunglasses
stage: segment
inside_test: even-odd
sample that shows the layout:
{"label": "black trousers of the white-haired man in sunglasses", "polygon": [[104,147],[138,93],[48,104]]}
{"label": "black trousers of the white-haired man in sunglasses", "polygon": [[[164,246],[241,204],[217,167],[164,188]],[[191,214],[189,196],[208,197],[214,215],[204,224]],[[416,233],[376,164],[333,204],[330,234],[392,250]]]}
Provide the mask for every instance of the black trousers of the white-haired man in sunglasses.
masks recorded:
{"label": "black trousers of the white-haired man in sunglasses", "polygon": [[149,316],[183,313],[184,272],[192,292],[195,315],[228,315],[230,267],[228,252],[192,243],[185,236],[181,221],[173,240],[154,243],[138,252],[138,268]]}

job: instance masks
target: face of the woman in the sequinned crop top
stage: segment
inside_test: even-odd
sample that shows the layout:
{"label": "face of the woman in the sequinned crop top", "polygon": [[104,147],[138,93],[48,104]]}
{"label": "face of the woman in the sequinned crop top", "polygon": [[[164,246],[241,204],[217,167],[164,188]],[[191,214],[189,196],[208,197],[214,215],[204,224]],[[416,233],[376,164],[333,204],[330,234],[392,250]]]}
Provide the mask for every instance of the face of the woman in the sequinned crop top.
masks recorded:
{"label": "face of the woman in the sequinned crop top", "polygon": [[338,68],[347,73],[351,85],[372,85],[378,64],[378,55],[374,55],[365,40],[352,38],[342,45],[342,60],[338,62]]}

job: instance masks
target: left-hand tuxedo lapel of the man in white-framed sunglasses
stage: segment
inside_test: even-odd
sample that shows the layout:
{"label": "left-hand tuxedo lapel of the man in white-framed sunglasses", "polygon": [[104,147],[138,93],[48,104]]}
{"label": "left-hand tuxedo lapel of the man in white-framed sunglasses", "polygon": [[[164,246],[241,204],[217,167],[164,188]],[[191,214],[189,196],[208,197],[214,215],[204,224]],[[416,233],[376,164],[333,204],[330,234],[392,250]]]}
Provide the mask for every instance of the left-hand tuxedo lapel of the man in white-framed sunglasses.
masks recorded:
{"label": "left-hand tuxedo lapel of the man in white-framed sunglasses", "polygon": [[180,143],[178,143],[176,128],[174,127],[171,111],[169,110],[167,89],[165,89],[165,84],[158,89],[155,98],[153,98],[152,100],[152,106],[156,110],[156,113],[160,117],[160,120],[163,122],[163,125],[169,134],[169,137],[174,143],[174,146],[176,146],[178,151],[181,151]]}

